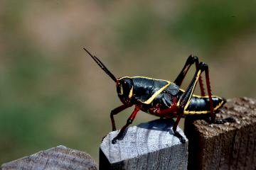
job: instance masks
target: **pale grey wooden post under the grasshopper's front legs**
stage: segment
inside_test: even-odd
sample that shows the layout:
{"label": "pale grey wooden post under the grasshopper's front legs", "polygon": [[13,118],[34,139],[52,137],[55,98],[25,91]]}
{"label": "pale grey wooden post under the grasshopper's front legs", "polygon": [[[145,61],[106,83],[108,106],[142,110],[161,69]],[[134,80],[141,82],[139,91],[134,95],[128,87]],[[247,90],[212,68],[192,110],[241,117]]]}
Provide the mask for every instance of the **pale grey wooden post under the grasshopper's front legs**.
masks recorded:
{"label": "pale grey wooden post under the grasshopper's front legs", "polygon": [[100,145],[100,169],[187,169],[188,141],[181,144],[173,135],[173,124],[158,119],[130,127],[114,145],[118,131],[110,132]]}

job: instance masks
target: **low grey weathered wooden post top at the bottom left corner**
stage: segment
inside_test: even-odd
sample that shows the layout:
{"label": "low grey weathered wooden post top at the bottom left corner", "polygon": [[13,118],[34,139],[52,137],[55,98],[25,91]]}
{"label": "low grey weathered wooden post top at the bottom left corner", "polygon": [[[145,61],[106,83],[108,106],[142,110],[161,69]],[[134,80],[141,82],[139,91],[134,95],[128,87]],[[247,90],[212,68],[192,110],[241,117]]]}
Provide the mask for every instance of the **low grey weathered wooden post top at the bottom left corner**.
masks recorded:
{"label": "low grey weathered wooden post top at the bottom left corner", "polygon": [[89,154],[64,146],[32,154],[3,164],[1,169],[97,169],[95,161]]}

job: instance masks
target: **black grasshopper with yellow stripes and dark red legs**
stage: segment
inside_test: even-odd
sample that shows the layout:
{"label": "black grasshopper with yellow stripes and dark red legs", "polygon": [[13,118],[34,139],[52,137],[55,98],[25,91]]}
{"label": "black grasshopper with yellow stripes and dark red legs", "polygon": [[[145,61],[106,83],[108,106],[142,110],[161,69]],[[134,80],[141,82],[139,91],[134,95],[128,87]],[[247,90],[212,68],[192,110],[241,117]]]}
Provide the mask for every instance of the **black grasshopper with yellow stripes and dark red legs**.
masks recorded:
{"label": "black grasshopper with yellow stripes and dark red legs", "polygon": [[[171,81],[163,79],[152,79],[149,77],[120,77],[117,79],[105,67],[105,65],[94,55],[90,54],[85,48],[84,50],[92,57],[93,60],[100,66],[104,72],[114,80],[117,86],[117,95],[122,101],[122,105],[114,108],[110,113],[112,122],[112,130],[116,130],[114,123],[114,115],[124,111],[124,109],[135,106],[134,111],[129,116],[127,123],[120,130],[117,137],[114,137],[112,143],[124,135],[124,130],[132,124],[138,111],[144,111],[161,118],[176,118],[173,126],[174,135],[178,137],[181,142],[186,142],[183,137],[176,131],[179,120],[184,115],[193,114],[208,114],[209,122],[216,124],[223,124],[226,122],[234,122],[233,118],[216,119],[215,111],[218,110],[225,103],[225,98],[213,96],[210,91],[210,78],[208,65],[199,62],[198,57],[190,55],[181,70],[178,77],[172,83]],[[188,85],[186,90],[180,89],[182,81],[186,76],[188,69],[192,64],[196,64],[196,73]],[[206,74],[206,87],[208,96],[206,96],[203,89],[203,81],[201,79],[202,72]],[[201,96],[193,94],[197,82],[199,81]]]}

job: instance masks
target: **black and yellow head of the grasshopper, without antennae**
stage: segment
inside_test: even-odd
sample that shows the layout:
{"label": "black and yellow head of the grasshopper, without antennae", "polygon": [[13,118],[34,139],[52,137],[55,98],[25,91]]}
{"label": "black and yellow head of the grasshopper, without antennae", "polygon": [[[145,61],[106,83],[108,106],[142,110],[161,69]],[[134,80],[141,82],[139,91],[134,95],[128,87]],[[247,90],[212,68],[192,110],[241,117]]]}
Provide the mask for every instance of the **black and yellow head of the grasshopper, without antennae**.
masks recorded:
{"label": "black and yellow head of the grasshopper, without antennae", "polygon": [[122,103],[130,103],[133,96],[133,81],[129,77],[121,77],[117,79],[117,95]]}

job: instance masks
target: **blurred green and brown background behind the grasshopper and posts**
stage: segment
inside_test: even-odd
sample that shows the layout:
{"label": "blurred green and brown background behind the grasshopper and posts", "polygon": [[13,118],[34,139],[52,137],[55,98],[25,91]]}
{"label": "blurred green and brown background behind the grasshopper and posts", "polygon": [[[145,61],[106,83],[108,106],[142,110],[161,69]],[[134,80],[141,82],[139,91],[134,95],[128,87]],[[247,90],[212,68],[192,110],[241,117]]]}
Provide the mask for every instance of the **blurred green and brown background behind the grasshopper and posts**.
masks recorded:
{"label": "blurred green and brown background behind the grasshopper and posts", "polygon": [[[197,55],[209,64],[213,94],[256,95],[255,0],[0,4],[0,164],[57,145],[98,160],[121,102],[82,47],[117,77],[171,81]],[[115,117],[118,128],[131,111]],[[141,113],[134,125],[152,119]]]}

